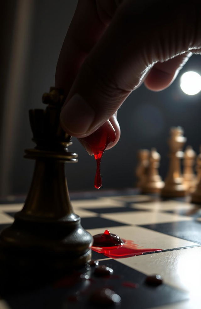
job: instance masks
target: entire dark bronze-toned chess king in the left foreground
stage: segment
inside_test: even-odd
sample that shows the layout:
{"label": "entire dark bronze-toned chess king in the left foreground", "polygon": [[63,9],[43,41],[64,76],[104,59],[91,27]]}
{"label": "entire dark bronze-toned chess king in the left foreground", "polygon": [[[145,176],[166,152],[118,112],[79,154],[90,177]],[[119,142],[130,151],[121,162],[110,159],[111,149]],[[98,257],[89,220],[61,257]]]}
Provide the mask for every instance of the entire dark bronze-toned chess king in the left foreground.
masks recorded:
{"label": "entire dark bronze-toned chess king in the left foreground", "polygon": [[65,162],[77,162],[68,151],[71,137],[59,124],[64,96],[52,87],[42,97],[45,110],[30,110],[34,149],[25,158],[35,160],[35,171],[24,207],[14,223],[0,234],[0,260],[9,267],[53,271],[83,266],[91,258],[91,235],[73,212],[65,178]]}

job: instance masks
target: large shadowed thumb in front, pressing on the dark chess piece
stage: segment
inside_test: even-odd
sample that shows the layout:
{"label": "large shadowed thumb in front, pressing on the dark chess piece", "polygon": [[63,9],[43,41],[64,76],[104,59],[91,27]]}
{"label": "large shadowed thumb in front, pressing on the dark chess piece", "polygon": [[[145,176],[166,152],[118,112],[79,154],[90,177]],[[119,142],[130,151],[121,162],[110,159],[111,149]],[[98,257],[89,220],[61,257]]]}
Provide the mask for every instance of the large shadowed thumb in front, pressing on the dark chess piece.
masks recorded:
{"label": "large shadowed thumb in front, pressing on the dark chess piece", "polygon": [[155,63],[201,47],[201,3],[192,1],[189,6],[187,1],[171,0],[164,11],[160,0],[123,2],[73,83],[61,113],[66,132],[90,135],[117,111]]}

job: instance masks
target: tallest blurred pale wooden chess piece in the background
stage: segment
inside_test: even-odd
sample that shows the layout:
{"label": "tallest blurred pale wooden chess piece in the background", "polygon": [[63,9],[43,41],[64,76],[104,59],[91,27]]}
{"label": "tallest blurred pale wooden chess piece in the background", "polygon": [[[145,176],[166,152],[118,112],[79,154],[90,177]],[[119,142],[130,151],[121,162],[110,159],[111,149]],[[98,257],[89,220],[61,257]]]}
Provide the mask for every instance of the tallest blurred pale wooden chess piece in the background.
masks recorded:
{"label": "tallest blurred pale wooden chess piece in the background", "polygon": [[181,127],[171,128],[171,137],[168,139],[169,170],[165,179],[165,186],[161,190],[162,197],[182,197],[187,194],[183,178],[181,176],[181,159],[183,158],[182,147],[186,142]]}

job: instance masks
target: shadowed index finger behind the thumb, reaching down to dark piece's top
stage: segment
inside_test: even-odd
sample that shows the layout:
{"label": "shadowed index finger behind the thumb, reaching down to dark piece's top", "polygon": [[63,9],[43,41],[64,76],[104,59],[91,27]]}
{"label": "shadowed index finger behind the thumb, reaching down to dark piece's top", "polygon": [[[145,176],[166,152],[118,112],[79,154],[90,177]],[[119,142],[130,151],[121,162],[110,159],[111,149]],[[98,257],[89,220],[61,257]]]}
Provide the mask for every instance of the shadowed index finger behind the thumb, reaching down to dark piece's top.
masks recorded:
{"label": "shadowed index finger behind the thumb, reaching down to dark piece's top", "polygon": [[81,0],[66,34],[57,62],[55,87],[67,96],[84,59],[105,30],[95,1]]}

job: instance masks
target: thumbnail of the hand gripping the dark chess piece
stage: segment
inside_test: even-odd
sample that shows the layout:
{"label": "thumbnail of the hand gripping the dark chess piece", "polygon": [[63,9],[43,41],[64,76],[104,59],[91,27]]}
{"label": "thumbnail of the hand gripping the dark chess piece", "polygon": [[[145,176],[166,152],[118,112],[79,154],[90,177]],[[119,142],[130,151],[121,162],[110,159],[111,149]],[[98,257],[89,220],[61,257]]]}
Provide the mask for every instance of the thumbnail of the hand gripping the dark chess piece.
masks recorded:
{"label": "thumbnail of the hand gripping the dark chess piece", "polygon": [[94,110],[76,93],[63,107],[60,121],[71,135],[83,135],[90,128],[94,117]]}

